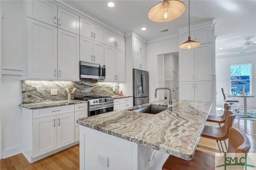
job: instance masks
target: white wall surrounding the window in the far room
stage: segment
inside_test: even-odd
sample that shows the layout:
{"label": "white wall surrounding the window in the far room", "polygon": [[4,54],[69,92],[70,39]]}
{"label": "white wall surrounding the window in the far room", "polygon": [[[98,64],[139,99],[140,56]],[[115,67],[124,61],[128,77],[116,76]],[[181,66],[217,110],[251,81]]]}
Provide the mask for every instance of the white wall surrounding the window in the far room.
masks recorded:
{"label": "white wall surrounding the window in the far room", "polygon": [[[236,53],[233,55],[216,56],[216,88],[217,88],[217,105],[223,106],[223,95],[221,88],[225,93],[230,93],[230,65],[252,63],[252,92],[256,96],[256,52],[253,53]],[[238,98],[240,107],[244,106],[244,99]],[[235,105],[234,105],[235,106]],[[247,99],[248,108],[256,108],[256,97]]]}

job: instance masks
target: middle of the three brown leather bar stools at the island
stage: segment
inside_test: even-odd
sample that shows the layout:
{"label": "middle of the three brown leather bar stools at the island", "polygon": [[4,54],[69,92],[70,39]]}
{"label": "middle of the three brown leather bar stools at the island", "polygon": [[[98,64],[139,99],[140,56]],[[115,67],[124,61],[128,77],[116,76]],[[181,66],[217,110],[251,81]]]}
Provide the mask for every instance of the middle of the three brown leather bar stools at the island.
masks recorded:
{"label": "middle of the three brown leather bar stools at the island", "polygon": [[225,111],[225,123],[222,127],[210,127],[204,126],[203,132],[201,134],[202,137],[211,138],[216,140],[218,149],[220,150],[219,140],[226,140],[228,138],[228,130],[232,127],[236,114],[232,111]]}

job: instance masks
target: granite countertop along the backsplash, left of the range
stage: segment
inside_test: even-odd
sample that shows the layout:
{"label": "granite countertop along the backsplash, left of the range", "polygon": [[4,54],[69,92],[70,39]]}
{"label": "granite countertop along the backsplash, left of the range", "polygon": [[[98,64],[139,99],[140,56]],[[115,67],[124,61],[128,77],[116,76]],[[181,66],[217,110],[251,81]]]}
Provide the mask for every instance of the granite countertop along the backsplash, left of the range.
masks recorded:
{"label": "granite countertop along the backsplash, left of the range", "polygon": [[40,103],[29,103],[29,104],[20,104],[20,106],[26,109],[44,109],[48,107],[57,107],[57,106],[65,106],[65,105],[74,105],[80,103],[88,103],[88,101],[83,100],[62,100],[62,101],[46,101]]}

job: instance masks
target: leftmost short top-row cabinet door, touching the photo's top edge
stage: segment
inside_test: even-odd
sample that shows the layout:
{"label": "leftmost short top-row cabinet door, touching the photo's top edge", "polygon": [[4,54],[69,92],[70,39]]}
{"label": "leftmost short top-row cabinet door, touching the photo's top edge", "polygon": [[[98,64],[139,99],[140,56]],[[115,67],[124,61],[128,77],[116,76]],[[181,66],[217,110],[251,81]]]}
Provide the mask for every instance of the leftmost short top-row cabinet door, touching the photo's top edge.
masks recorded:
{"label": "leftmost short top-row cabinet door, touching the photo's top edge", "polygon": [[27,2],[28,17],[57,26],[57,5],[46,0],[29,0]]}

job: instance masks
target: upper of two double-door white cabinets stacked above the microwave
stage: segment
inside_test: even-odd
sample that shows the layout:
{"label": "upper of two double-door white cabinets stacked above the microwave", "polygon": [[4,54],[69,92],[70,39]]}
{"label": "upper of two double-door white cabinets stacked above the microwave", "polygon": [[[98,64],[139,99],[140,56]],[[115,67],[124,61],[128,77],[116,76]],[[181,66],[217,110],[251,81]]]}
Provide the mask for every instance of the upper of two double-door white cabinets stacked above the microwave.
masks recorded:
{"label": "upper of two double-door white cabinets stacked above the microwave", "polygon": [[104,28],[80,17],[80,36],[104,43]]}

